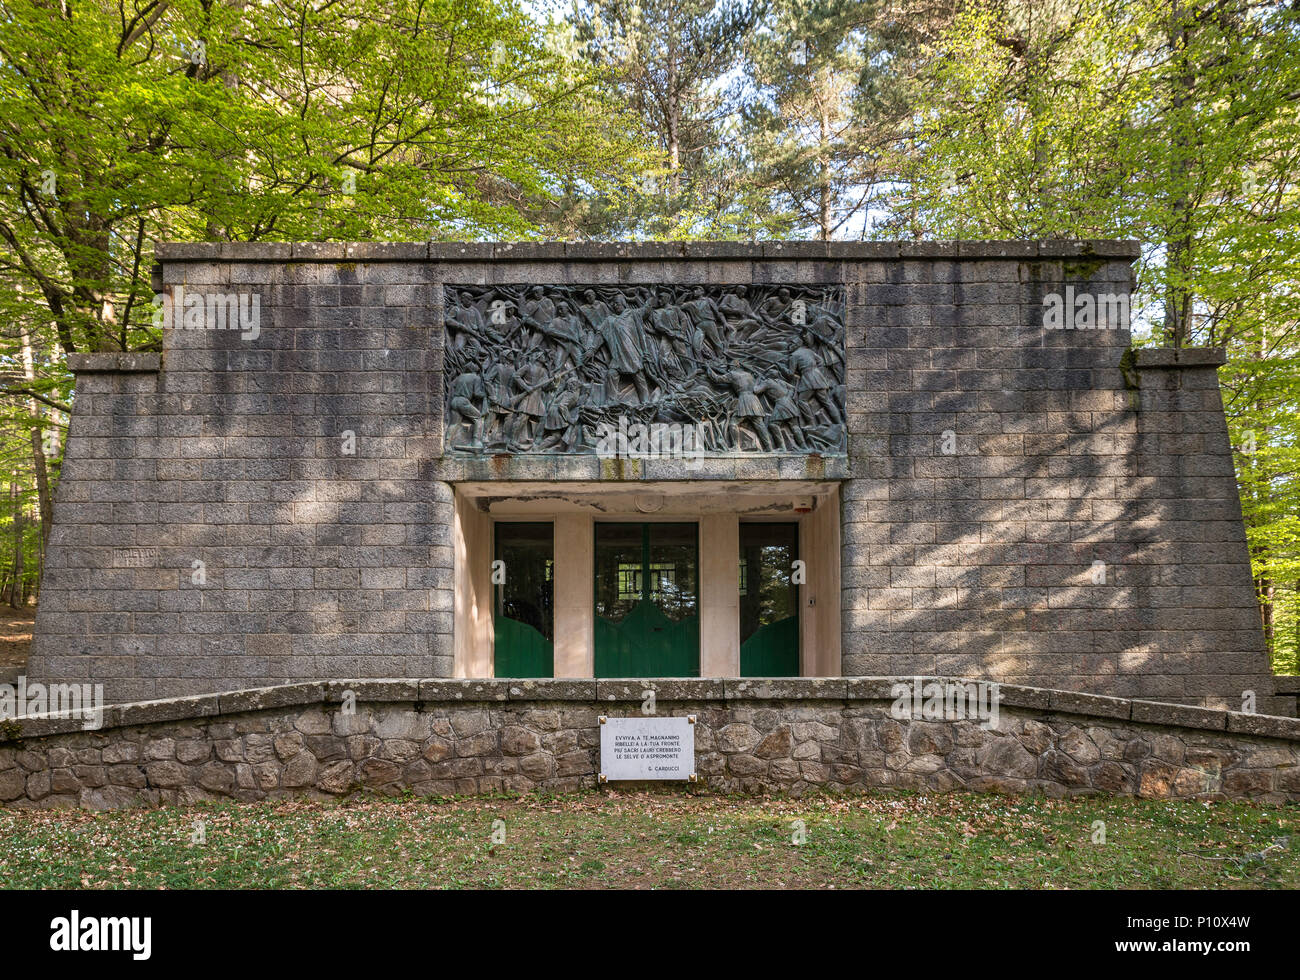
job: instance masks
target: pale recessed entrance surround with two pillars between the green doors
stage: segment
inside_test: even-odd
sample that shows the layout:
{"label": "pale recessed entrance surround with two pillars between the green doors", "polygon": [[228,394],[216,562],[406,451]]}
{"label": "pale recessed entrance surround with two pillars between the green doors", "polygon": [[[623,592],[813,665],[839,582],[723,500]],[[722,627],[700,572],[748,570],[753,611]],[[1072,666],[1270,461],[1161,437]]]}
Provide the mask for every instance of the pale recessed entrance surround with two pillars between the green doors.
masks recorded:
{"label": "pale recessed entrance surround with two pillars between the green doors", "polygon": [[[430,636],[436,673],[451,658],[452,677],[491,677],[493,524],[552,521],[555,525],[555,676],[594,675],[594,533],[602,522],[690,522],[699,528],[699,672],[740,672],[740,603],[736,580],[740,520],[797,520],[807,582],[800,586],[801,675],[837,677],[841,669],[841,490],[837,481],[465,481],[451,484],[451,584],[434,589],[429,610],[439,624]],[[792,499],[815,502],[792,511]],[[651,504],[650,502],[656,502]],[[646,504],[644,507],[644,504]],[[649,509],[649,507],[656,509]],[[446,621],[446,625],[441,624]],[[862,652],[862,651],[855,651]]]}

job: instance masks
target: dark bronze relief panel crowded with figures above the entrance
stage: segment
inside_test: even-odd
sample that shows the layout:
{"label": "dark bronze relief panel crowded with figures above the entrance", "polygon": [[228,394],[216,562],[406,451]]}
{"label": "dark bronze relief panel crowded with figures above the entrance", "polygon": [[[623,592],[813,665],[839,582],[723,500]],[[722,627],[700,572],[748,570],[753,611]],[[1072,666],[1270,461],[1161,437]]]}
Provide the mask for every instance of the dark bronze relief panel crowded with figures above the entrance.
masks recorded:
{"label": "dark bronze relief panel crowded with figures above the entrance", "polygon": [[838,286],[447,286],[448,451],[844,452]]}

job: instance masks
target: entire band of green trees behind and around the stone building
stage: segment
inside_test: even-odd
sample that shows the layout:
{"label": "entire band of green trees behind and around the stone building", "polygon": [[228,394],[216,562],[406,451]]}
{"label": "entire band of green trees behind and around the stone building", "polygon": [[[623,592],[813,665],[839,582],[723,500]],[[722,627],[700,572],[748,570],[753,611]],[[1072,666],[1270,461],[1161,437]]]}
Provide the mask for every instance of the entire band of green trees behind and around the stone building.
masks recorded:
{"label": "entire band of green trees behind and around the stone building", "polygon": [[1265,629],[1295,669],[1300,12],[904,13],[0,0],[0,568],[39,567],[64,356],[160,343],[157,240],[1135,238],[1136,343],[1228,351]]}

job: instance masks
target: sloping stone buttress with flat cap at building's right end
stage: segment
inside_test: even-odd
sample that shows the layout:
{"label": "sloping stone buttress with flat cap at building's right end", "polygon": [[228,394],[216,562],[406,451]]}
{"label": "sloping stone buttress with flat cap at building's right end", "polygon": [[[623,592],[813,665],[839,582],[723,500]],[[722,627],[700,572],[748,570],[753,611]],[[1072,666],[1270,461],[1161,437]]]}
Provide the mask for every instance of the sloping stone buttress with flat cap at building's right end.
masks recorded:
{"label": "sloping stone buttress with flat cap at building's right end", "polygon": [[1218,385],[1226,360],[1216,347],[1126,357],[1138,432],[1121,506],[1145,533],[1114,574],[1121,586],[1128,577],[1145,617],[1140,642],[1119,656],[1122,690],[1230,711],[1253,691],[1260,714],[1290,715],[1295,702],[1274,695],[1251,577]]}

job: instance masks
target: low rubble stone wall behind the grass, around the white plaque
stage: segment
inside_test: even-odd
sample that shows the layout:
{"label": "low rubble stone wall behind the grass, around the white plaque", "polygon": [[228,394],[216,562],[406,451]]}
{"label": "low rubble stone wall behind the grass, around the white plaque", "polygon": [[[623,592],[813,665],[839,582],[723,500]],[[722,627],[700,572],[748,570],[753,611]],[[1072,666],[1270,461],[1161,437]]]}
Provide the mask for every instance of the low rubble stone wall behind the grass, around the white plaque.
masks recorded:
{"label": "low rubble stone wall behind the grass, around the white plaque", "polygon": [[[0,801],[125,807],[358,790],[597,785],[603,715],[694,715],[702,785],[1300,801],[1300,721],[1001,686],[998,725],[890,716],[897,682],[828,680],[300,684],[0,723]],[[923,678],[940,680],[944,678]]]}

